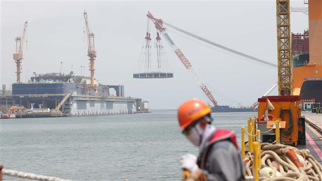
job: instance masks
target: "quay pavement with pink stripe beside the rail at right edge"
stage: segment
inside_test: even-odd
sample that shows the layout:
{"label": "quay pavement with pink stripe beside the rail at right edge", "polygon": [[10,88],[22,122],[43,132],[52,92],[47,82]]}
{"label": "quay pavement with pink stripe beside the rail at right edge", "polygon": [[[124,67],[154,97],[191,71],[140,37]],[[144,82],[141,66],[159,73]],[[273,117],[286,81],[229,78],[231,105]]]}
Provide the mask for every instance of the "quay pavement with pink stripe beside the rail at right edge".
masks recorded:
{"label": "quay pavement with pink stripe beside the rail at right edge", "polygon": [[298,149],[308,149],[312,156],[322,164],[322,115],[302,112],[305,117],[306,145],[298,145]]}

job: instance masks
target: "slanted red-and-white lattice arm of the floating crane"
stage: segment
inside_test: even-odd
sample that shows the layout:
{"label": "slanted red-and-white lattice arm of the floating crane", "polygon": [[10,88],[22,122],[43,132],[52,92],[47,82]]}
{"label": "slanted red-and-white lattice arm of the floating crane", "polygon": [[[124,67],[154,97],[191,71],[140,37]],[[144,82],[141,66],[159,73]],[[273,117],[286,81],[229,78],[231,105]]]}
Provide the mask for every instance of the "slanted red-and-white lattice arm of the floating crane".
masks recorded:
{"label": "slanted red-and-white lattice arm of the floating crane", "polygon": [[214,106],[217,105],[217,101],[213,97],[212,93],[206,86],[205,82],[201,79],[199,74],[196,72],[196,70],[192,67],[189,60],[186,58],[186,56],[182,53],[182,51],[179,49],[179,47],[175,44],[175,42],[171,39],[169,36],[169,33],[167,32],[166,28],[163,26],[163,21],[161,19],[156,19],[152,16],[150,12],[146,15],[155,25],[155,28],[166,38],[169,45],[173,48],[176,55],[182,62],[182,64],[186,67],[186,69],[190,72],[190,75],[192,78],[197,82],[198,86],[201,88],[201,90],[204,92],[204,94],[207,96],[207,98],[213,103]]}

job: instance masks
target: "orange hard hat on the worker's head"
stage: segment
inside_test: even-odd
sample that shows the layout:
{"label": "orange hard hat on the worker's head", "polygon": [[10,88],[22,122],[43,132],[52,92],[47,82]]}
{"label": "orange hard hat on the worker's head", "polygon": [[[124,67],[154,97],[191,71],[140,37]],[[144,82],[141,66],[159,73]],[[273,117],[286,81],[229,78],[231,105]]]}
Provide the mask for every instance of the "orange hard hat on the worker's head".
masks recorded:
{"label": "orange hard hat on the worker's head", "polygon": [[194,121],[211,113],[211,109],[200,99],[189,99],[178,108],[178,120],[180,129],[185,129]]}

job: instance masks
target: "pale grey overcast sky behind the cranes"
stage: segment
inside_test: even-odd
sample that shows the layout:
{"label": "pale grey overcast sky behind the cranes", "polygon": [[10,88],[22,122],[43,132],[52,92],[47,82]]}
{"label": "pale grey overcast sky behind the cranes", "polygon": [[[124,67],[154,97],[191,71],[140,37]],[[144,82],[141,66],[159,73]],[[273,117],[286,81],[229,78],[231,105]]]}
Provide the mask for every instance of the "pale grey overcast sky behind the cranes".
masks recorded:
{"label": "pale grey overcast sky behind the cranes", "polygon": [[[307,7],[303,0],[291,1],[291,6]],[[275,1],[2,1],[1,84],[8,89],[16,81],[15,37],[21,34],[26,20],[28,44],[22,60],[22,82],[33,72],[59,72],[60,62],[65,73],[73,67],[79,74],[81,66],[86,66],[85,75],[89,76],[84,10],[96,35],[95,78],[102,84],[124,85],[126,96],[148,100],[152,109],[177,108],[192,97],[207,99],[165,40],[174,78],[132,78],[145,37],[147,11],[186,31],[277,64]],[[307,15],[291,13],[292,32],[303,33],[307,28]],[[168,30],[220,105],[252,105],[277,81],[277,69]],[[153,27],[151,37],[155,37]],[[277,95],[277,90],[271,95]]]}

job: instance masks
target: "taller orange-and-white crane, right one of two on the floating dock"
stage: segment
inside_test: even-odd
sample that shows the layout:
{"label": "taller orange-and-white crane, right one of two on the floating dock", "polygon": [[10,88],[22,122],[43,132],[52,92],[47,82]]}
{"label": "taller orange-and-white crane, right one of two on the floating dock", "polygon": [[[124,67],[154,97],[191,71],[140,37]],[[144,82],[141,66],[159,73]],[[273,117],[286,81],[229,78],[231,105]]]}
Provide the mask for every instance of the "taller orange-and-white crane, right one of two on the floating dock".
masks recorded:
{"label": "taller orange-and-white crane, right one of two on the floating dock", "polygon": [[95,35],[90,30],[88,17],[85,10],[84,10],[84,19],[85,19],[85,25],[86,25],[86,35],[87,35],[87,45],[88,45],[87,56],[90,57],[90,71],[91,71],[90,90],[92,89],[95,91],[95,93],[97,93],[96,86],[94,84],[94,71],[95,71],[94,60],[96,59],[96,51],[95,51],[95,44],[94,44]]}

